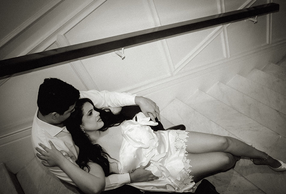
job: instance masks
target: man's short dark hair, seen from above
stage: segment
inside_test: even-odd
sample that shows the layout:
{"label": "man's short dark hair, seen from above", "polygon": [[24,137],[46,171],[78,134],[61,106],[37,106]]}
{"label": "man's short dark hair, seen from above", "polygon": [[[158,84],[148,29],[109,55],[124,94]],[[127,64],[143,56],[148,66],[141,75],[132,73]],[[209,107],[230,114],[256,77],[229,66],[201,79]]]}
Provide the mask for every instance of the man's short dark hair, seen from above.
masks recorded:
{"label": "man's short dark hair, seen from above", "polygon": [[37,104],[42,115],[52,112],[62,115],[78,99],[79,91],[72,85],[57,78],[46,78],[39,87]]}

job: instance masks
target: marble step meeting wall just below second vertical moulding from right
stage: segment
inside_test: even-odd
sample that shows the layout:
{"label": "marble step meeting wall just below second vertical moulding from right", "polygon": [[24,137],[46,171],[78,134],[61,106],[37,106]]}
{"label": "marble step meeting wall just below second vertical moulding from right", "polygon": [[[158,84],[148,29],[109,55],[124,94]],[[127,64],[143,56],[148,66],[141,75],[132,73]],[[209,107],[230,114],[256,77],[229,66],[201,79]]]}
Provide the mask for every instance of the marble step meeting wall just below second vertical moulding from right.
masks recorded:
{"label": "marble step meeting wall just below second vertical moulding from right", "polygon": [[241,75],[235,75],[226,85],[286,114],[286,96],[261,86]]}

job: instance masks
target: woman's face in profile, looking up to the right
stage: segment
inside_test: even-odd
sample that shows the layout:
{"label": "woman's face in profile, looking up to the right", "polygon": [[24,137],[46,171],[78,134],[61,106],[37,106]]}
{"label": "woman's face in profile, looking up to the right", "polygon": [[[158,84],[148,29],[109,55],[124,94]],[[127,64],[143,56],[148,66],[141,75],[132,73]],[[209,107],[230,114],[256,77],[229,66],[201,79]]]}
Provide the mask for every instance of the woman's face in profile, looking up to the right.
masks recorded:
{"label": "woman's face in profile, looking up to the right", "polygon": [[82,124],[81,127],[86,131],[96,131],[103,127],[104,123],[100,119],[99,112],[93,109],[91,103],[86,102],[82,106]]}

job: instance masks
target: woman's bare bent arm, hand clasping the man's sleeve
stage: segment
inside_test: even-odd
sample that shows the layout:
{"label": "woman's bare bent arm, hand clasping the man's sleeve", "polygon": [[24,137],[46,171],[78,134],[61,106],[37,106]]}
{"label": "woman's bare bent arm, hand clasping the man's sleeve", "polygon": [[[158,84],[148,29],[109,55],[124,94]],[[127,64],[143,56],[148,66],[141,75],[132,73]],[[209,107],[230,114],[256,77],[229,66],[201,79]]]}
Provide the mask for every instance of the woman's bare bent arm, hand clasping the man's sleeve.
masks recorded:
{"label": "woman's bare bent arm, hand clasping the man's sleeve", "polygon": [[93,163],[90,165],[91,171],[82,170],[72,162],[70,162],[63,154],[57,150],[54,144],[49,141],[51,144],[51,149],[46,147],[43,144],[39,144],[44,150],[36,147],[35,149],[40,153],[37,153],[37,157],[42,159],[42,164],[48,167],[59,167],[64,171],[78,186],[81,191],[89,193],[100,193],[105,188],[105,175],[103,169],[100,165]]}

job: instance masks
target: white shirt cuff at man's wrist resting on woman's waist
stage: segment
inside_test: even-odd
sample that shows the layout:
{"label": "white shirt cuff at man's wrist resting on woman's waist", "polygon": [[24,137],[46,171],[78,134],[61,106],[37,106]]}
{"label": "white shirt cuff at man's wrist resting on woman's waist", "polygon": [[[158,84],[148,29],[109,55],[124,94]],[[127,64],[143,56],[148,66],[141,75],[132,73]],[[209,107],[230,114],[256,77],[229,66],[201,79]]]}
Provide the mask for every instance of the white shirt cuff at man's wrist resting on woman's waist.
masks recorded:
{"label": "white shirt cuff at man's wrist resting on woman's waist", "polygon": [[111,174],[105,177],[105,191],[115,189],[125,184],[130,183],[129,173],[125,174]]}

